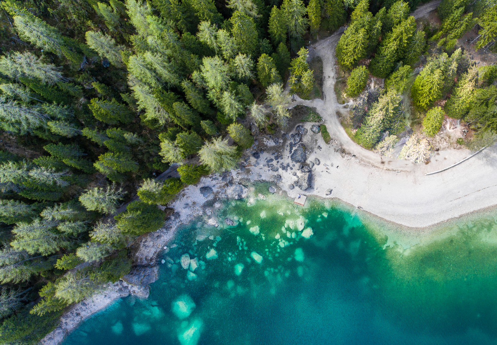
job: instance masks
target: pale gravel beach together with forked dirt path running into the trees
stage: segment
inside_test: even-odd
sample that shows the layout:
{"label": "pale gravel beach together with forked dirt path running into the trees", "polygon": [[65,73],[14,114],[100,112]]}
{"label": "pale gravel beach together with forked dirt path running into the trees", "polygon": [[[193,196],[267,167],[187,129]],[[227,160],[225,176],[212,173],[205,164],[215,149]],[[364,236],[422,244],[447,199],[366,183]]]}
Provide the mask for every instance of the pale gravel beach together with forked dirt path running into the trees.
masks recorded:
{"label": "pale gravel beach together with forked dirt path running into the trees", "polygon": [[[440,1],[424,4],[412,13],[416,18],[434,10]],[[302,100],[298,104],[315,107],[333,139],[327,145],[321,135],[311,132],[305,137],[308,160],[321,160],[314,167],[313,191],[286,189],[290,197],[299,193],[335,197],[361,207],[387,220],[412,226],[426,227],[462,214],[497,204],[497,146],[486,148],[471,159],[435,175],[426,173],[443,169],[471,152],[467,149],[449,149],[435,154],[429,164],[413,164],[407,160],[392,159],[366,150],[353,142],[341,126],[336,112],[338,104],[334,93],[334,50],[343,30],[309,47],[310,58],[323,60],[323,93],[325,99]],[[312,124],[307,123],[306,128]],[[320,151],[317,146],[321,145]],[[347,154],[340,153],[343,148]],[[285,155],[288,150],[285,149]],[[292,178],[283,180],[292,182]]]}

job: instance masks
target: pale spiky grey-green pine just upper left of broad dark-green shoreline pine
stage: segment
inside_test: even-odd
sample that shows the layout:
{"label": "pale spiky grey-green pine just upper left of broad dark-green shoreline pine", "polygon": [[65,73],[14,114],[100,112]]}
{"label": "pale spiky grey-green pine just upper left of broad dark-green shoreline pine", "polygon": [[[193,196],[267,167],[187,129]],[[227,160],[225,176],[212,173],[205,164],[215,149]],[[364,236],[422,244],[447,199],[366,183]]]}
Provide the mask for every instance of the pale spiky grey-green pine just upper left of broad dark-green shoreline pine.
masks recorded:
{"label": "pale spiky grey-green pine just upper left of broad dark-green shoreline pine", "polygon": [[106,188],[87,189],[80,196],[80,203],[89,211],[98,211],[100,213],[113,214],[119,201],[126,194],[122,188],[117,189],[113,183]]}

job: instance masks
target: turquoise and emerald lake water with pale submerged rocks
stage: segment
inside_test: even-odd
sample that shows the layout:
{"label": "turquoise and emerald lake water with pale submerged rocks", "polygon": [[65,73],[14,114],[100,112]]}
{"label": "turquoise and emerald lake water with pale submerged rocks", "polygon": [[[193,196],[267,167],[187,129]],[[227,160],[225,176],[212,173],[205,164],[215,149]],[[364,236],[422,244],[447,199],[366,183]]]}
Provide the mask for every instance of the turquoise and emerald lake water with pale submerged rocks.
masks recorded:
{"label": "turquoise and emerald lake water with pale submerged rocks", "polygon": [[147,300],[117,301],[63,344],[497,344],[497,213],[403,248],[386,245],[392,225],[307,203],[230,201],[218,216],[236,226],[183,227]]}

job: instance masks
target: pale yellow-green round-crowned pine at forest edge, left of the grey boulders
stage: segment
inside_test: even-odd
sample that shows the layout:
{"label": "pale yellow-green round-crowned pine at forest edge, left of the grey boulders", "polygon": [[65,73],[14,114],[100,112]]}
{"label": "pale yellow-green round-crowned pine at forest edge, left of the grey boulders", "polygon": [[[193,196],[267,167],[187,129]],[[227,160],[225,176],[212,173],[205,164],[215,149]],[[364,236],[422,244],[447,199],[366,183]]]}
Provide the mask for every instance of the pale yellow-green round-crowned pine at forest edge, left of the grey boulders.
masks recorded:
{"label": "pale yellow-green round-crowned pine at forest edge, left of the grey boulders", "polygon": [[229,146],[228,140],[222,138],[213,138],[211,142],[206,142],[198,154],[200,162],[212,172],[230,170],[237,164],[236,146]]}

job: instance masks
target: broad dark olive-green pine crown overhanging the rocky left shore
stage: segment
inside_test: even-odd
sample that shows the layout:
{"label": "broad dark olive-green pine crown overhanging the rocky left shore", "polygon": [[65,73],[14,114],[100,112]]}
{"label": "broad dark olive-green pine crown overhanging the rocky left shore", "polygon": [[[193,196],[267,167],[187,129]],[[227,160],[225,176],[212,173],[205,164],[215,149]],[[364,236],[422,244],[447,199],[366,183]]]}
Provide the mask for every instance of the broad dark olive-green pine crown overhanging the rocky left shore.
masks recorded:
{"label": "broad dark olive-green pine crown overhanging the rocky left shore", "polygon": [[126,211],[114,218],[117,220],[117,227],[122,232],[133,235],[156,231],[164,225],[164,212],[156,205],[140,201],[129,203]]}

